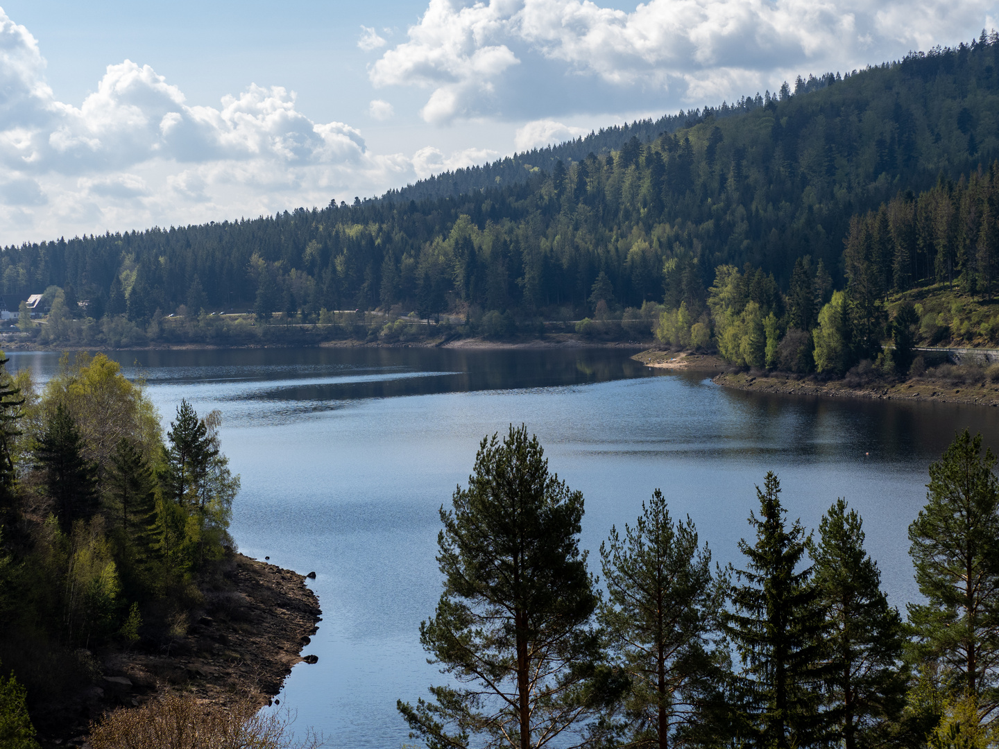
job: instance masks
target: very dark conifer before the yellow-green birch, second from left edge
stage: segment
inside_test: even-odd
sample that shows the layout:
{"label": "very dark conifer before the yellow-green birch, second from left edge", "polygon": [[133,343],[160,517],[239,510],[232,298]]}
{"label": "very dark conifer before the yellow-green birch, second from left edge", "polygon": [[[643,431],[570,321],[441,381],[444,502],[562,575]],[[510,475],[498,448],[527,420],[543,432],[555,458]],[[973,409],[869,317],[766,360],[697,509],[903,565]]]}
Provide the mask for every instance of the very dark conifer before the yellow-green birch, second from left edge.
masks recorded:
{"label": "very dark conifer before the yellow-green birch, second from left edge", "polygon": [[36,467],[44,471],[45,485],[55,500],[63,530],[97,510],[95,468],[84,458],[83,446],[76,422],[59,403],[38,438],[35,458]]}

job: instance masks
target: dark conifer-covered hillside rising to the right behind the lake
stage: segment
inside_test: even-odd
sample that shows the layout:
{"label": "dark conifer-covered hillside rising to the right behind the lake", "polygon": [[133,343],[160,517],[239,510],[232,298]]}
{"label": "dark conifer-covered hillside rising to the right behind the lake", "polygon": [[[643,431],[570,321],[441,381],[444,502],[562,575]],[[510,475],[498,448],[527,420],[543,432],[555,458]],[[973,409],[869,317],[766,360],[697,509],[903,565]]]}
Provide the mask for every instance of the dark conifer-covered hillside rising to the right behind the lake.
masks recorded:
{"label": "dark conifer-covered hillside rising to the right behind the lake", "polygon": [[[181,305],[253,308],[262,320],[356,308],[570,319],[601,301],[611,313],[663,301],[703,309],[718,266],[749,263],[767,284],[772,275],[776,294],[806,255],[841,288],[852,217],[999,155],[997,68],[999,39],[983,33],[695,113],[689,126],[647,144],[632,135],[612,154],[566,144],[543,152],[564,157],[550,174],[519,184],[400,200],[424,190],[415,186],[351,207],[8,247],[0,285],[21,297],[69,288],[67,301],[89,300],[95,321],[137,326]],[[495,182],[497,169],[458,182]],[[433,184],[441,180],[426,192]],[[915,284],[936,267],[914,258],[906,273]]]}

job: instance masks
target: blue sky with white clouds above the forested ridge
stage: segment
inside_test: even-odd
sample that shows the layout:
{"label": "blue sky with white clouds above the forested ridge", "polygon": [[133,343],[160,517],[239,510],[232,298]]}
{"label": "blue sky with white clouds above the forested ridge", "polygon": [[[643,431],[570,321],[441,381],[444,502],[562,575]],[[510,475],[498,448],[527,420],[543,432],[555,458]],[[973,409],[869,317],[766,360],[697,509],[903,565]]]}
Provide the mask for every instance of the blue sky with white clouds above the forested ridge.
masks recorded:
{"label": "blue sky with white clouds above the forested ridge", "polygon": [[13,0],[0,244],[353,200],[956,44],[965,0]]}

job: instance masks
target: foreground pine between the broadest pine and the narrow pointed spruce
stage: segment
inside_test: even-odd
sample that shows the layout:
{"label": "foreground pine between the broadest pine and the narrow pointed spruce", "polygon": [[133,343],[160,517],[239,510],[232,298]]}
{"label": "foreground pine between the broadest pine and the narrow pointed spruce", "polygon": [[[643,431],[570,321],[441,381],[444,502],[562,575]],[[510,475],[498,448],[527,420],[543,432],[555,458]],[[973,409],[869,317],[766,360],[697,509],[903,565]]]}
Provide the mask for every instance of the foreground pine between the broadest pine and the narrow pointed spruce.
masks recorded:
{"label": "foreground pine between the broadest pine and the narrow pointed spruce", "polygon": [[662,492],[621,538],[600,544],[607,602],[600,622],[630,678],[623,703],[629,745],[665,749],[702,720],[717,683],[713,622],[721,588],[690,518],[673,522]]}

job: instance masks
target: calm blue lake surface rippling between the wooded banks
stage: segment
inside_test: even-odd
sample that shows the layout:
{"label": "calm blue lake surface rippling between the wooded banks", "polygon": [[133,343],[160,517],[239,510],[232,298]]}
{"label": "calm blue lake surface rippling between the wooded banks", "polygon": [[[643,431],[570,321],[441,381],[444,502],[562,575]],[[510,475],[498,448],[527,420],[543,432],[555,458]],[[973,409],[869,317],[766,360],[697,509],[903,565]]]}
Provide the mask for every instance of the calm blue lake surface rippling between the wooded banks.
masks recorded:
{"label": "calm blue lake surface rippling between the wooded banks", "polygon": [[[54,354],[13,354],[45,378]],[[768,396],[701,375],[656,373],[613,351],[263,350],[119,352],[146,376],[164,422],[181,397],[221,408],[223,447],[243,490],[232,532],[245,553],[301,573],[323,622],[282,702],[335,747],[398,747],[396,700],[439,675],[420,621],[441,591],[438,509],[472,468],[485,434],[525,422],[549,467],[586,497],[582,542],[633,522],[661,487],[714,559],[736,544],[753,485],[777,471],[806,526],[845,496],[891,601],[917,596],[906,528],[925,501],[927,464],[954,430],[999,446],[999,414],[942,403]],[[598,570],[595,570],[598,571]]]}

